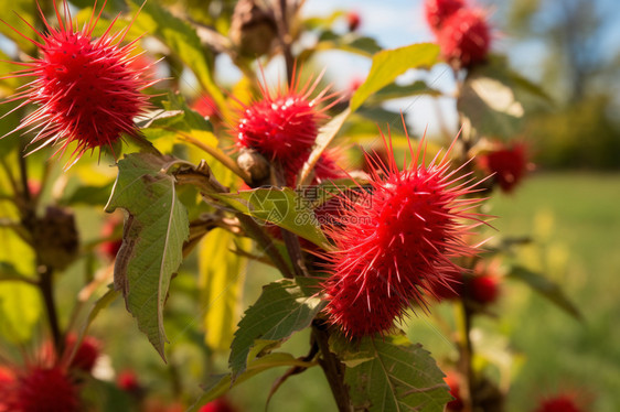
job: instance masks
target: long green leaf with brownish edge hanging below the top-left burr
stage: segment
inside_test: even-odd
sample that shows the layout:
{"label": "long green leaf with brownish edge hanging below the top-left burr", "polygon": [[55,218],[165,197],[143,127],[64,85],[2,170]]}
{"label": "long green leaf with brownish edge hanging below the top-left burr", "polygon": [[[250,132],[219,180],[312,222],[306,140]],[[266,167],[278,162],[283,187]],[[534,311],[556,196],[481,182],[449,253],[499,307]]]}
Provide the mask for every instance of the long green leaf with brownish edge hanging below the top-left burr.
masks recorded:
{"label": "long green leaf with brownish edge hanging below the top-left burr", "polygon": [[161,172],[165,163],[164,158],[150,153],[132,153],[119,161],[106,206],[108,213],[117,207],[128,213],[115,264],[115,288],[122,291],[127,310],[164,359],[163,304],[190,232],[174,177]]}

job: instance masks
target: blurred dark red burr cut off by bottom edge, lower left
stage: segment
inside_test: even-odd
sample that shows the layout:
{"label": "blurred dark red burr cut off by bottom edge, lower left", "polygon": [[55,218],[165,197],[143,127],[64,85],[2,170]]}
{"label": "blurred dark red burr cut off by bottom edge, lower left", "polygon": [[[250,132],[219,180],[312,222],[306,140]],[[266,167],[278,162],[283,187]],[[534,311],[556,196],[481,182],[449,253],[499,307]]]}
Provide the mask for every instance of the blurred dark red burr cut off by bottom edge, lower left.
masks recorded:
{"label": "blurred dark red burr cut off by bottom edge, lower left", "polygon": [[7,402],[9,411],[77,412],[78,391],[60,368],[34,367],[20,376]]}

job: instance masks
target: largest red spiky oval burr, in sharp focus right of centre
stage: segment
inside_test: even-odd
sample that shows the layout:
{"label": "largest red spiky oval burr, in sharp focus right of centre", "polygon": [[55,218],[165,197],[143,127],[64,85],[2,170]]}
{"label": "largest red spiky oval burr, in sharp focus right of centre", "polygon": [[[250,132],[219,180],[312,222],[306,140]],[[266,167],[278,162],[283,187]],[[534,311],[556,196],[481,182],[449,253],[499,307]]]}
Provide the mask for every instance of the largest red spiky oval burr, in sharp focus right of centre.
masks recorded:
{"label": "largest red spiky oval burr, in sharp focus right of centre", "polygon": [[481,200],[464,197],[475,185],[450,170],[448,153],[425,165],[420,143],[399,172],[385,137],[384,143],[388,164],[375,164],[370,188],[328,229],[336,251],[328,257],[327,313],[352,337],[388,332],[409,304],[426,307],[434,285],[462,270],[450,259],[475,254],[463,238],[482,223],[470,212]]}

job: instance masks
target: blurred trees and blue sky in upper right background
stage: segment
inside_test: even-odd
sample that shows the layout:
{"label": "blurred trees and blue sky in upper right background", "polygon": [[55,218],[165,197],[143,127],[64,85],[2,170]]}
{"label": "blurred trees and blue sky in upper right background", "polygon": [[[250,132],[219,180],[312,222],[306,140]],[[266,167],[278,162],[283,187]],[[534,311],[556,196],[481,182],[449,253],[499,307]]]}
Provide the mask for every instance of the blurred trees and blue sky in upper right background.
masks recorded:
{"label": "blurred trees and blue sky in upper right background", "polygon": [[495,9],[493,19],[512,65],[554,99],[523,131],[537,165],[620,169],[620,4],[613,0],[485,3]]}

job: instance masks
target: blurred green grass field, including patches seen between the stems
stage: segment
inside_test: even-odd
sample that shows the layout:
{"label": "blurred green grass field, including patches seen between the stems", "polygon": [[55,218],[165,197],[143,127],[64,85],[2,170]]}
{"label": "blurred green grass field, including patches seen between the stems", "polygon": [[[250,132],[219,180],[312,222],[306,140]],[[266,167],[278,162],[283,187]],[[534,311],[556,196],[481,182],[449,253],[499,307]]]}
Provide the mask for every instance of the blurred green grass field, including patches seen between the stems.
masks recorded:
{"label": "blurred green grass field, including patches seen between the stems", "polygon": [[[557,390],[577,391],[588,411],[620,408],[620,174],[535,174],[513,195],[495,194],[488,213],[495,237],[532,236],[534,243],[512,258],[562,284],[580,308],[578,322],[516,281],[503,288],[496,319],[480,319],[488,341],[514,354],[509,361],[509,412],[533,411],[536,400]],[[268,274],[248,273],[249,294]],[[254,278],[254,281],[252,281]],[[252,299],[250,296],[247,296]],[[437,312],[451,315],[447,305]],[[409,336],[441,359],[452,348],[424,315],[408,322]],[[287,343],[303,355],[308,336]],[[485,348],[489,351],[489,348]],[[492,351],[492,348],[491,348]],[[505,360],[505,359],[504,359]],[[292,377],[275,394],[271,411],[332,411],[329,387],[318,368]],[[495,372],[491,367],[491,375]],[[284,372],[274,370],[234,390],[248,411],[263,411],[271,383]],[[507,384],[506,383],[506,384]]]}

